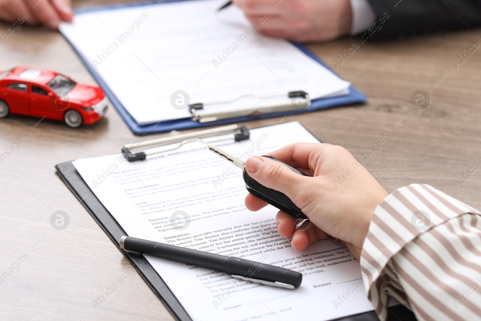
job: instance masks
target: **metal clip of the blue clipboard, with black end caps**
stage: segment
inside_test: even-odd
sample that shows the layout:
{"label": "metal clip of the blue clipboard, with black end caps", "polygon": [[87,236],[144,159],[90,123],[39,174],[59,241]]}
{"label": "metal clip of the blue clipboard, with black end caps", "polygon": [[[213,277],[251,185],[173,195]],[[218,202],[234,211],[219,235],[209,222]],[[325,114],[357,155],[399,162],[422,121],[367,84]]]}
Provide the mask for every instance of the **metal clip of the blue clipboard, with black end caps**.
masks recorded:
{"label": "metal clip of the blue clipboard, with black end caps", "polygon": [[285,96],[270,96],[270,97],[259,97],[257,95],[243,95],[233,99],[231,101],[220,102],[220,103],[211,103],[208,106],[214,106],[219,104],[227,104],[227,103],[235,103],[239,101],[241,98],[244,97],[253,97],[262,101],[263,99],[272,99],[272,98],[284,98],[282,99],[283,102],[276,102],[276,103],[268,103],[263,106],[251,106],[251,107],[242,107],[238,109],[231,109],[231,110],[221,110],[221,111],[205,111],[203,103],[194,103],[190,104],[190,113],[192,114],[192,120],[198,120],[201,123],[220,120],[220,119],[229,119],[235,117],[242,117],[242,116],[257,116],[263,114],[270,114],[270,113],[279,113],[279,112],[287,112],[292,110],[305,110],[311,104],[311,98],[307,94],[307,92],[303,90],[298,91],[291,91]]}

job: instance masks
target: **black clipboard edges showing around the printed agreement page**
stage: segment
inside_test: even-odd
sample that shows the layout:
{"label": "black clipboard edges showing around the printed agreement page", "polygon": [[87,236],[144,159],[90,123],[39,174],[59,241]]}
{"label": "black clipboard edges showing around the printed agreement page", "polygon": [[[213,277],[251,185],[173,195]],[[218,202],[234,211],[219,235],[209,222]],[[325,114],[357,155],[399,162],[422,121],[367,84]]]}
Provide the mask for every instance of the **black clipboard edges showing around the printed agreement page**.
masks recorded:
{"label": "black clipboard edges showing around the printed agreement page", "polygon": [[[117,220],[102,205],[100,200],[90,190],[87,183],[83,180],[72,162],[66,162],[55,166],[57,173],[63,180],[65,185],[74,193],[76,198],[89,211],[90,215],[99,223],[101,228],[110,236],[114,244],[119,246],[119,240],[127,233],[122,229]],[[169,289],[161,276],[157,273],[152,265],[144,259],[143,255],[136,252],[119,249],[134,265],[136,270],[152,288],[153,292],[159,296],[165,305],[165,308],[172,314],[174,319],[178,321],[192,321],[187,311],[182,307],[176,296]],[[143,262],[138,264],[138,262]],[[352,315],[349,317],[337,319],[339,321],[379,321],[374,311]],[[390,308],[388,321],[395,320],[416,320],[414,314],[402,305]]]}

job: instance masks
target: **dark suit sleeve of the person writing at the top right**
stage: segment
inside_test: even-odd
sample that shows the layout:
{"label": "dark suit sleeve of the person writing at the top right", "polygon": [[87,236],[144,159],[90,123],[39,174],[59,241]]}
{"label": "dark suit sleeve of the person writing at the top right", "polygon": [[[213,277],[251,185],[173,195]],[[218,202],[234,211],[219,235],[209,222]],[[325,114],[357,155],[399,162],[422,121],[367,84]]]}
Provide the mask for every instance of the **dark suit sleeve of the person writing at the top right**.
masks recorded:
{"label": "dark suit sleeve of the person writing at the top right", "polygon": [[[376,21],[389,16],[373,38],[407,37],[481,26],[481,0],[369,0]],[[374,27],[373,27],[374,28]],[[378,27],[379,28],[379,27]]]}

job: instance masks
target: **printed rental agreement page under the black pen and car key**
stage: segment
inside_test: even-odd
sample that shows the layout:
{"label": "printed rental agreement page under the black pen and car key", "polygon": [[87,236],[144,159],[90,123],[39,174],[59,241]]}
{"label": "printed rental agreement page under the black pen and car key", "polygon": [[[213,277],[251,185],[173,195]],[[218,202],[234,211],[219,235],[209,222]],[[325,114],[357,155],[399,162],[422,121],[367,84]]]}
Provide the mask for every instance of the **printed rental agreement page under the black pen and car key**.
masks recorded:
{"label": "printed rental agreement page under the black pen and car key", "polygon": [[[253,129],[250,140],[225,141],[222,148],[246,159],[298,141],[318,142],[291,122]],[[74,165],[130,236],[303,273],[298,289],[284,290],[149,257],[194,321],[326,321],[372,310],[359,262],[341,243],[325,240],[303,252],[293,250],[290,240],[278,235],[278,210],[270,205],[258,212],[247,210],[241,170],[201,143],[143,162],[129,163],[113,154],[78,159]]]}

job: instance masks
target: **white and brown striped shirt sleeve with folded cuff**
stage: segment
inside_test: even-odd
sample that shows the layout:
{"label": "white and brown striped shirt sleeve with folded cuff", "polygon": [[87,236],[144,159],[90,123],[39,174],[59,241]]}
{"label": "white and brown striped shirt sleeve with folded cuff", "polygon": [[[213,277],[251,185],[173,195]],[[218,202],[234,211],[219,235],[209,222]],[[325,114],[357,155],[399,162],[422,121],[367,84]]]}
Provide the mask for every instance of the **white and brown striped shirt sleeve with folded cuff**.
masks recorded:
{"label": "white and brown striped shirt sleeve with folded cuff", "polygon": [[419,321],[481,320],[480,215],[425,184],[402,187],[377,206],[360,263],[381,321],[390,296]]}

